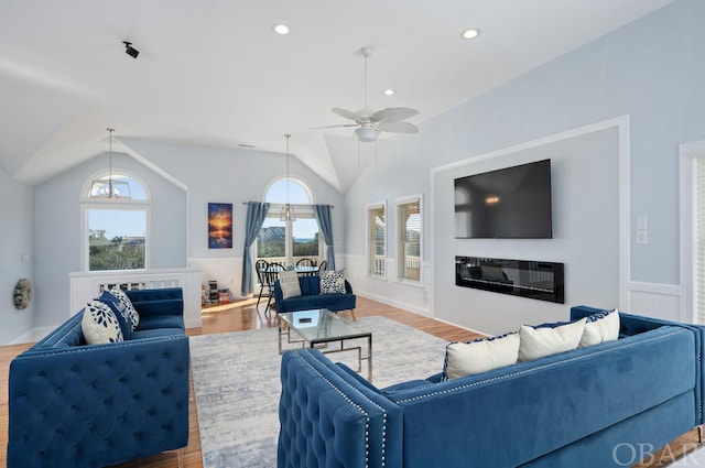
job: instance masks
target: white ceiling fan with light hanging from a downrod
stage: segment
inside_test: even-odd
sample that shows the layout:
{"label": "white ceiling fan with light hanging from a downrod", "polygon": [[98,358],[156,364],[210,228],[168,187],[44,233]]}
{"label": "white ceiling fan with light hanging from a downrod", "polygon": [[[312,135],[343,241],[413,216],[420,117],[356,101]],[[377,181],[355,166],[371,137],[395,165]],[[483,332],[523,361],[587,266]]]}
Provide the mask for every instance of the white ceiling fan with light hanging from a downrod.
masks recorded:
{"label": "white ceiling fan with light hanging from a downrod", "polygon": [[364,47],[360,54],[365,58],[365,107],[358,111],[350,111],[334,107],[330,109],[333,113],[346,119],[354,120],[355,123],[346,123],[340,126],[329,126],[324,128],[357,127],[355,135],[359,141],[376,141],[380,132],[393,133],[416,133],[419,128],[404,119],[414,117],[419,113],[415,109],[406,107],[388,107],[387,109],[375,111],[368,105],[369,86],[367,77],[367,59],[372,55],[371,47]]}

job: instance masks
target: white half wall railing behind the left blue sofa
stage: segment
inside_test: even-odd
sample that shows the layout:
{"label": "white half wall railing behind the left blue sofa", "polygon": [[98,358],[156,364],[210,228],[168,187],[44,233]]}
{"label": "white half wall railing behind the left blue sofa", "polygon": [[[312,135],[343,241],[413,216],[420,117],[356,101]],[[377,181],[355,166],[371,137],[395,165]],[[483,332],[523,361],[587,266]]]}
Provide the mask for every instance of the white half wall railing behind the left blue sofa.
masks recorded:
{"label": "white half wall railing behind the left blue sofa", "polygon": [[78,313],[90,300],[104,290],[118,284],[123,290],[152,290],[181,287],[184,291],[184,325],[199,328],[200,284],[203,273],[199,268],[177,268],[159,270],[111,270],[75,272],[70,280],[69,316]]}

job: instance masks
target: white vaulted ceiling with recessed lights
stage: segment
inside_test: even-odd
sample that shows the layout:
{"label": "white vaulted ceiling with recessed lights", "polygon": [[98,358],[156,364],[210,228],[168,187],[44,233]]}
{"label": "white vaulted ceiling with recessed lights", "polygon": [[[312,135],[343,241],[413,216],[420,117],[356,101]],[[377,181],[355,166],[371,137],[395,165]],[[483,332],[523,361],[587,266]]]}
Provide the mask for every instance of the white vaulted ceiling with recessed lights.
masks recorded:
{"label": "white vaulted ceiling with recessed lights", "polygon": [[[291,133],[291,153],[344,192],[358,171],[352,130],[313,128],[349,122],[332,107],[364,107],[361,47],[375,50],[370,107],[419,109],[410,121],[423,132],[671,1],[2,0],[0,165],[41,183],[107,151],[108,127],[117,139],[278,153]],[[278,22],[291,34],[274,34]],[[467,28],[481,34],[464,41]]]}

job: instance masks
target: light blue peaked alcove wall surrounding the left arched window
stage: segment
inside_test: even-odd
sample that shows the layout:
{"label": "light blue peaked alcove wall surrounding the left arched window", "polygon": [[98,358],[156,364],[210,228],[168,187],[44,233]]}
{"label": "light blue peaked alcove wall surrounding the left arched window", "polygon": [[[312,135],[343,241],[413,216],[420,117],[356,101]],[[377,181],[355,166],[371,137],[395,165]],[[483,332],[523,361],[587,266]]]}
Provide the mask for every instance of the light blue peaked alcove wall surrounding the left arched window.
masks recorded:
{"label": "light blue peaked alcove wall surrounding the left arched window", "polygon": [[[69,311],[69,279],[82,265],[80,188],[105,171],[107,154],[35,187],[36,294],[35,327],[58,325]],[[113,153],[113,168],[141,177],[151,194],[151,268],[186,265],[186,195],[132,157]]]}

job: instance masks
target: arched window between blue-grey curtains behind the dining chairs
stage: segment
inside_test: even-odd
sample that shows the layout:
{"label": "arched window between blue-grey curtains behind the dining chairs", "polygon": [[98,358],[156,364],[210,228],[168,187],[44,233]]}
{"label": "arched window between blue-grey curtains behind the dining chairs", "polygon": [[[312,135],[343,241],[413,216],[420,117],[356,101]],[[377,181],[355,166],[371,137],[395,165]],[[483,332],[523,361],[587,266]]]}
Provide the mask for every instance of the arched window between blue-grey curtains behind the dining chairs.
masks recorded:
{"label": "arched window between blue-grey curtains behind the dining chairs", "polygon": [[[323,242],[318,241],[318,224],[311,207],[314,200],[308,186],[291,177],[276,179],[268,187],[264,202],[270,203],[270,209],[257,238],[257,258],[284,265],[295,265],[302,258],[318,261]],[[282,219],[286,203],[293,205],[295,220]]]}

